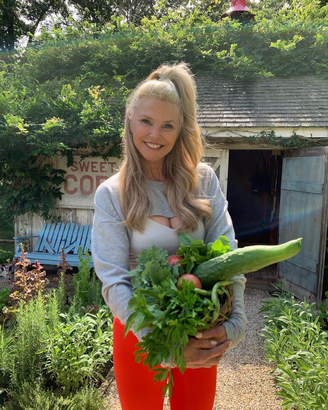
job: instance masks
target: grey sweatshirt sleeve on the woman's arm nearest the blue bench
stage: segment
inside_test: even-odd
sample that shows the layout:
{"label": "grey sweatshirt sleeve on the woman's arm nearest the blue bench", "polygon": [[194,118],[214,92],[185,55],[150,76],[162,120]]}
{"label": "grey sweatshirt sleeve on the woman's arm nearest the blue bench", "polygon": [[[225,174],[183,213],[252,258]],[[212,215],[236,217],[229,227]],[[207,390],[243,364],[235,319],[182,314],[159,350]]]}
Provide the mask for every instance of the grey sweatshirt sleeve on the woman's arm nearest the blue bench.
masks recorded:
{"label": "grey sweatshirt sleeve on the woman's arm nearest the blue bench", "polygon": [[[103,283],[102,295],[105,303],[123,324],[133,310],[128,310],[132,297],[128,229],[120,225],[121,218],[116,211],[112,196],[105,184],[99,185],[94,198],[95,213],[91,231],[91,253],[96,275]],[[133,329],[132,329],[133,331]],[[144,328],[133,332],[139,342],[149,333]]]}

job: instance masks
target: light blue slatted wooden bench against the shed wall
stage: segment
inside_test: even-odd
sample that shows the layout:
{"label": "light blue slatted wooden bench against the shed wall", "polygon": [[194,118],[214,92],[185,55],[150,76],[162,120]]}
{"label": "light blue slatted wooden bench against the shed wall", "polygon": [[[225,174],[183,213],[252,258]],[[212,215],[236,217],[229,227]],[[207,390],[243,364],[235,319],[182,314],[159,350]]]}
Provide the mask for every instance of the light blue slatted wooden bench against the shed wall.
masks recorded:
{"label": "light blue slatted wooden bench against the shed wall", "polygon": [[[73,222],[66,224],[64,222],[44,223],[39,235],[15,236],[13,238],[17,241],[14,257],[21,257],[20,243],[23,239],[39,238],[33,251],[26,254],[27,259],[32,264],[38,260],[41,264],[57,266],[57,263],[62,261],[59,256],[62,256],[60,252],[63,247],[66,253],[66,261],[71,266],[77,266],[79,264],[77,257],[79,246],[82,246],[83,253],[87,247],[91,254],[91,230],[92,225],[79,226]],[[92,256],[89,267],[94,267]]]}

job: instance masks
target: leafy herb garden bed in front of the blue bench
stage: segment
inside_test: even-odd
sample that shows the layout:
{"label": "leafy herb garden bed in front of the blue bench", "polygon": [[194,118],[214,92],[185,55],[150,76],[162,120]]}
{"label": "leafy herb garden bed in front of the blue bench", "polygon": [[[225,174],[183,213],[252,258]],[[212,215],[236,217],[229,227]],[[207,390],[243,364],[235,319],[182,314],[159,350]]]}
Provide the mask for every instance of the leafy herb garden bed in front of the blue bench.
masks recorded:
{"label": "leafy herb garden bed in front of the blue bench", "polygon": [[14,280],[0,278],[3,409],[103,408],[102,391],[113,367],[113,317],[89,259],[81,248],[72,275],[63,252],[58,275],[46,275],[22,253]]}

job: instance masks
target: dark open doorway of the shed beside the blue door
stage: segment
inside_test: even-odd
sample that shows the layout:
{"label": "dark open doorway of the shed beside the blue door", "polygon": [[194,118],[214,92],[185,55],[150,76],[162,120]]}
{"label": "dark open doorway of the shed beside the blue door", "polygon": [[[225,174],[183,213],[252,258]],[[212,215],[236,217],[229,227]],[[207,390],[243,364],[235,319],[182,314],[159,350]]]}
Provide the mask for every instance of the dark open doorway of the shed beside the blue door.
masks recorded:
{"label": "dark open doorway of the shed beside the blue door", "polygon": [[278,244],[282,157],[280,150],[229,150],[228,212],[239,248]]}

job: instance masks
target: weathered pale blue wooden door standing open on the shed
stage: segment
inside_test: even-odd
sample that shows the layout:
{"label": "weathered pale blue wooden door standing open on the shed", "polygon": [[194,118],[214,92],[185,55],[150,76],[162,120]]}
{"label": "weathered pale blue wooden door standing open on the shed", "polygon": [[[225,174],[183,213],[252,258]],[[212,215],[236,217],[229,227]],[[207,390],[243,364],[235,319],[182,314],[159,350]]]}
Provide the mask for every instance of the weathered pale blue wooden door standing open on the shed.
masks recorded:
{"label": "weathered pale blue wooden door standing open on the shed", "polygon": [[[279,243],[302,239],[298,255],[280,262],[278,275],[296,297],[321,300],[328,219],[328,147],[285,151]],[[328,289],[325,289],[328,290]]]}

